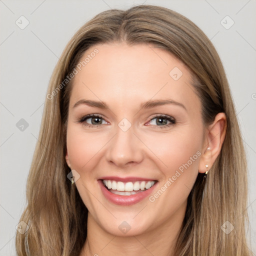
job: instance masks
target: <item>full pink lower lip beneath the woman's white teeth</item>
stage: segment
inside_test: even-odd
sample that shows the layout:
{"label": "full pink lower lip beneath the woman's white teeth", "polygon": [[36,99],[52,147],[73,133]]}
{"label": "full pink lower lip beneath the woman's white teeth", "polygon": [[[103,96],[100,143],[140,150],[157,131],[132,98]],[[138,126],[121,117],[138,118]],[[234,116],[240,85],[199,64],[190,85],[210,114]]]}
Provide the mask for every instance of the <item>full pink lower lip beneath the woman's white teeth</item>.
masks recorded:
{"label": "full pink lower lip beneath the woman's white teeth", "polygon": [[110,202],[118,205],[131,205],[135,204],[141,200],[143,200],[145,197],[147,197],[152,190],[155,187],[155,182],[150,188],[146,189],[143,192],[138,192],[136,194],[131,195],[119,195],[119,194],[113,194],[111,193],[103,184],[102,180],[98,180],[99,186],[101,188],[101,191],[103,195],[108,199]]}

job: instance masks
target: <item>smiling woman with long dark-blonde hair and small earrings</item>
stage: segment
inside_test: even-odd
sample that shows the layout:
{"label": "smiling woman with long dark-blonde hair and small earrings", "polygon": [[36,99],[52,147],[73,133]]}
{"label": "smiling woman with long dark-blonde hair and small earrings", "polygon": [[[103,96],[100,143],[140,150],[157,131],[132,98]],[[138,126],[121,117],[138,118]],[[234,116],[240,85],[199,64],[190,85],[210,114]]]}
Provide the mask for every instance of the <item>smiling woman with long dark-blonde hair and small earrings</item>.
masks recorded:
{"label": "smiling woman with long dark-blonde hair and small earrings", "polygon": [[152,5],[99,13],[47,95],[18,255],[251,255],[228,83],[190,20]]}

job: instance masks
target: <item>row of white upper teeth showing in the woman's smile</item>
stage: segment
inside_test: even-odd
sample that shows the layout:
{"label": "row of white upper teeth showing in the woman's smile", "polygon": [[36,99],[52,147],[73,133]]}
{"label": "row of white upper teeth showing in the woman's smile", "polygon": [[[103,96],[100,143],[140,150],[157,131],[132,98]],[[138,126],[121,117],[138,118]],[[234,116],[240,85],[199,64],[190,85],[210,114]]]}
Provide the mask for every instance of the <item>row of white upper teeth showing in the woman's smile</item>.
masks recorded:
{"label": "row of white upper teeth showing in the woman's smile", "polygon": [[108,189],[114,189],[118,191],[132,191],[132,190],[144,190],[150,188],[155,181],[135,181],[135,182],[121,182],[109,179],[103,179],[103,183]]}

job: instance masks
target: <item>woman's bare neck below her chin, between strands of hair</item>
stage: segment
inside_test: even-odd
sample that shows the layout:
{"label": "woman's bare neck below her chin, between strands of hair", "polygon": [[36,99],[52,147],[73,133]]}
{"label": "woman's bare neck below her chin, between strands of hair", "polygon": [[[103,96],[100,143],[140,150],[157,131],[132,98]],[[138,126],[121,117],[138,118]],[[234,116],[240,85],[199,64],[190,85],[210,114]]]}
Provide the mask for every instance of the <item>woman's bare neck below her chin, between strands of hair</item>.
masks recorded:
{"label": "woman's bare neck below her chin, between strands of hair", "polygon": [[156,229],[132,236],[116,236],[106,232],[88,212],[87,237],[80,256],[172,256],[185,208],[186,204]]}

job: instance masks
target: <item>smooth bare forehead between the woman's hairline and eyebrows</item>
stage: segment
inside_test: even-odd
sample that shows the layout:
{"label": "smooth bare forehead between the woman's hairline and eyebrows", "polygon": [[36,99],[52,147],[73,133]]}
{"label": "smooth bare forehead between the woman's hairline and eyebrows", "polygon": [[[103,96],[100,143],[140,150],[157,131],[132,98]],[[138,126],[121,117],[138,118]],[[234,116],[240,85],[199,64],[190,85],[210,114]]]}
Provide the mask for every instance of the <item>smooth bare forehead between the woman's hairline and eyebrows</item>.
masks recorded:
{"label": "smooth bare forehead between the woman's hairline and eyebrows", "polygon": [[86,97],[128,106],[171,97],[188,107],[198,104],[189,69],[152,44],[96,44],[86,50],[78,65],[71,103]]}

